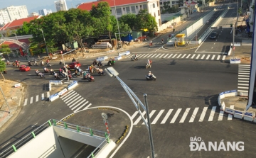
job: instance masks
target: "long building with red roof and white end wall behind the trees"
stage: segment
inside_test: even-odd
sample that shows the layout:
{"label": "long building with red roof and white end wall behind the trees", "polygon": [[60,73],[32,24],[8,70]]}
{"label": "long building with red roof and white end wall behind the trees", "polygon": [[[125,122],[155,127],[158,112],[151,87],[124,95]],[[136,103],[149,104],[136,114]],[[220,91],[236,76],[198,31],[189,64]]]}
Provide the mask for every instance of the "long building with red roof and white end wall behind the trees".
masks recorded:
{"label": "long building with red roof and white end wall behind the trees", "polygon": [[[156,18],[157,26],[161,26],[161,13],[160,13],[160,5],[159,0],[101,0],[107,1],[110,4],[111,13],[113,16],[120,18],[122,15],[127,13],[139,13],[139,10],[146,9],[151,16]],[[90,11],[92,9],[92,5],[97,6],[100,1],[92,1],[88,3],[78,4],[77,8],[81,10]],[[115,10],[116,7],[116,10]]]}

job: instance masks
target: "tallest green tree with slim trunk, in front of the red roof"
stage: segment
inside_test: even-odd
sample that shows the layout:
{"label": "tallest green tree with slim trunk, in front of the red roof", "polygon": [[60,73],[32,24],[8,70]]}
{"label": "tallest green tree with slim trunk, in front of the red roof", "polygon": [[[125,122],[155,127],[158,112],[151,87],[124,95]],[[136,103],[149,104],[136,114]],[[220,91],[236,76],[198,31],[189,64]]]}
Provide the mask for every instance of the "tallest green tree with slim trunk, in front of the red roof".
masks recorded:
{"label": "tallest green tree with slim trunk, in front of the red roof", "polygon": [[[108,32],[110,36],[110,42],[111,40],[111,12],[110,12],[110,5],[106,1],[101,1],[97,4],[97,6],[93,5],[92,10],[90,11],[91,16],[98,18],[100,20],[100,23],[102,27],[105,29],[105,31]],[[113,44],[112,44],[113,45]]]}

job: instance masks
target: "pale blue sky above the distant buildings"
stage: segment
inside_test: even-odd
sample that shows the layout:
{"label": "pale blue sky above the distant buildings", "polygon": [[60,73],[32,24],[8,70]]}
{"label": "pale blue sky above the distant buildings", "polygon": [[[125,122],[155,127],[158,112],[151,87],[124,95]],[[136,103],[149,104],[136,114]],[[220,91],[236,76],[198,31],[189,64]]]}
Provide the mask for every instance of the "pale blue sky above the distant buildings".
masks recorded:
{"label": "pale blue sky above the distant buildings", "polygon": [[[54,6],[54,1],[58,0],[0,0],[0,9],[4,9],[8,6],[26,6],[28,9],[28,14],[32,12],[38,13],[38,10],[47,9],[56,11]],[[85,3],[88,1],[97,1],[97,0],[65,0],[68,6],[68,9],[76,8],[77,4]]]}

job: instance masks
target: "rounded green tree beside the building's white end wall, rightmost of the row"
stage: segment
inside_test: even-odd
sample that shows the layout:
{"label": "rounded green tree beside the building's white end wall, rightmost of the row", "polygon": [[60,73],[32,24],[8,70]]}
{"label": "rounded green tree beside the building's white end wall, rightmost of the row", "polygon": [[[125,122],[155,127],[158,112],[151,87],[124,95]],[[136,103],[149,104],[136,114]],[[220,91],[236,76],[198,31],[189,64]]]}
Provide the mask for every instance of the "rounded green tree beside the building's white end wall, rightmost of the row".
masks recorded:
{"label": "rounded green tree beside the building's white end wall, rightmost of the row", "polygon": [[144,29],[147,28],[149,30],[150,35],[153,35],[154,30],[158,30],[156,18],[151,16],[146,9],[142,9],[137,14],[137,28]]}

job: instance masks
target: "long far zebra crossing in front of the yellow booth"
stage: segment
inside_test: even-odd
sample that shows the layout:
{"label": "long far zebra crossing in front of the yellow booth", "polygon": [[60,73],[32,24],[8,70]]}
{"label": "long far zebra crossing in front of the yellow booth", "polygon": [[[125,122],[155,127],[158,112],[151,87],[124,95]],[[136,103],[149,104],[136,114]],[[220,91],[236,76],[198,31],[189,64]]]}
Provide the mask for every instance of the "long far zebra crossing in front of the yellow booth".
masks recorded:
{"label": "long far zebra crossing in front of the yellow booth", "polygon": [[[134,54],[132,54],[134,55]],[[124,58],[130,58],[132,55],[127,55]],[[139,54],[137,55],[139,58],[160,58],[160,59],[186,59],[186,60],[225,60],[227,55],[201,55],[201,54]]]}

